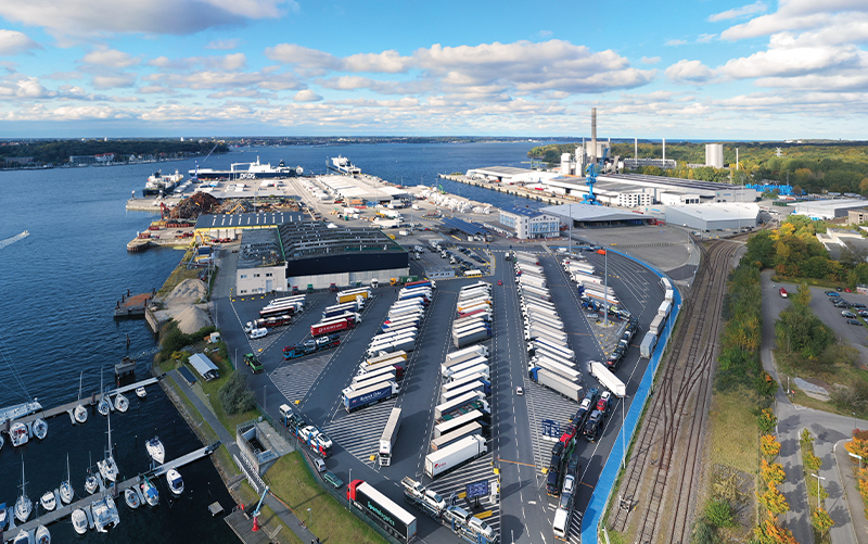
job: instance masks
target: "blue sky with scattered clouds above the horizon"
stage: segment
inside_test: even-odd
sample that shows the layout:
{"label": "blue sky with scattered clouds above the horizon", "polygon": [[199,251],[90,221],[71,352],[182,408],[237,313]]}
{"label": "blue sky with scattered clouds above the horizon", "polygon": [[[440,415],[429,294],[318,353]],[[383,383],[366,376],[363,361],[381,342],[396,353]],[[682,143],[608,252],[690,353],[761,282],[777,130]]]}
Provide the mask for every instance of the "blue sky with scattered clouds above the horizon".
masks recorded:
{"label": "blue sky with scattered clouds above the horizon", "polygon": [[0,138],[868,139],[868,0],[0,1]]}

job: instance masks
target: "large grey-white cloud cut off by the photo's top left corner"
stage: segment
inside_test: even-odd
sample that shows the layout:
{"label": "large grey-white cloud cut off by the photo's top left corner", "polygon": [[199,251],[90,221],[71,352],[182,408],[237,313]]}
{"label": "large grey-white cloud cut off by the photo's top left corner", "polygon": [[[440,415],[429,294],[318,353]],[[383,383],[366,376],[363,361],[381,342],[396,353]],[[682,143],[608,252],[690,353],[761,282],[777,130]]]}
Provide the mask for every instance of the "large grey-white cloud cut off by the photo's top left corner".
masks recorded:
{"label": "large grey-white cloud cut off by the photo's top left corner", "polygon": [[54,36],[145,33],[189,35],[205,28],[275,18],[297,3],[284,0],[27,0],[0,2],[0,16]]}

